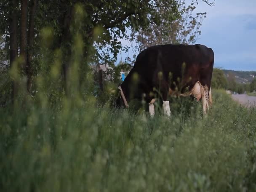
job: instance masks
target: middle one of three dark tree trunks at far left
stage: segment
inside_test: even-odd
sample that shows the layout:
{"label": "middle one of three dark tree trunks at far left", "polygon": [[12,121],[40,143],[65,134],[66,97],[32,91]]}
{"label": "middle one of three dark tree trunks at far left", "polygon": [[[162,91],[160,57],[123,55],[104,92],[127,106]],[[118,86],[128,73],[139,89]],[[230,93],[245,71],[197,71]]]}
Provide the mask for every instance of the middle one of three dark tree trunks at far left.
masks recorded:
{"label": "middle one of three dark tree trunks at far left", "polygon": [[27,0],[21,0],[21,43],[20,56],[22,58],[21,70],[25,72],[27,62]]}

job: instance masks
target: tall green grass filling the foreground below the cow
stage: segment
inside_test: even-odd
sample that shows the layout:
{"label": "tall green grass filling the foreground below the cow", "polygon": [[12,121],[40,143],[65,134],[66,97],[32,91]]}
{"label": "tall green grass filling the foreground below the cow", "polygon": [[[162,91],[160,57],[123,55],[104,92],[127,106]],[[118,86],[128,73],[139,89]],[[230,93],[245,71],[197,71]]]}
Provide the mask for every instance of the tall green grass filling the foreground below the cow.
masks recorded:
{"label": "tall green grass filling the foreground below the cow", "polygon": [[1,191],[255,191],[256,109],[213,91],[172,117],[64,102],[0,109]]}

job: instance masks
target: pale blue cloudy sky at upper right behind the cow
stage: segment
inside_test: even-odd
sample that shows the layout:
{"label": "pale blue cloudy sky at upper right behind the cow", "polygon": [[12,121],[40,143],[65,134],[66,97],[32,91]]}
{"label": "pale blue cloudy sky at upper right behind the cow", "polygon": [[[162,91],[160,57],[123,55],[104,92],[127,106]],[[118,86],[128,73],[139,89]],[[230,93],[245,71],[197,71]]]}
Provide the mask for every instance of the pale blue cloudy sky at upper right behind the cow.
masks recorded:
{"label": "pale blue cloudy sky at upper right behind the cow", "polygon": [[[256,0],[215,0],[213,7],[198,0],[195,12],[207,13],[196,43],[213,49],[214,67],[256,71]],[[125,56],[120,53],[117,60]]]}

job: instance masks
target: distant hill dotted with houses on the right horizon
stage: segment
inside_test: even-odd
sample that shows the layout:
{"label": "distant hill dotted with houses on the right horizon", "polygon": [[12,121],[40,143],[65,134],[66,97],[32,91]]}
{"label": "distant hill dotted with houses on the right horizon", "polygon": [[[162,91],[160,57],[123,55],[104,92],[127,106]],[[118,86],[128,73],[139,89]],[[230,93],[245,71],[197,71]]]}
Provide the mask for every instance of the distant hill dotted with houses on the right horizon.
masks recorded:
{"label": "distant hill dotted with houses on the right horizon", "polygon": [[228,77],[230,73],[235,75],[235,80],[237,83],[251,83],[253,78],[256,77],[256,71],[234,71],[222,69],[225,76]]}

